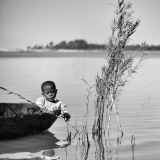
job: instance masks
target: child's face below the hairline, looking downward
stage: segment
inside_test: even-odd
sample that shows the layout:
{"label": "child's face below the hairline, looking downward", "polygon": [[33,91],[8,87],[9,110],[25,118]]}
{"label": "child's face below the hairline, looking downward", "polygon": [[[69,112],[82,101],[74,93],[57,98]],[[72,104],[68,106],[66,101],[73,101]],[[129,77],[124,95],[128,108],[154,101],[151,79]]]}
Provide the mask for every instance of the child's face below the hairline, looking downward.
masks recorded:
{"label": "child's face below the hairline, looking downward", "polygon": [[42,95],[48,100],[48,101],[54,101],[56,98],[57,89],[54,88],[52,85],[46,85],[43,88]]}

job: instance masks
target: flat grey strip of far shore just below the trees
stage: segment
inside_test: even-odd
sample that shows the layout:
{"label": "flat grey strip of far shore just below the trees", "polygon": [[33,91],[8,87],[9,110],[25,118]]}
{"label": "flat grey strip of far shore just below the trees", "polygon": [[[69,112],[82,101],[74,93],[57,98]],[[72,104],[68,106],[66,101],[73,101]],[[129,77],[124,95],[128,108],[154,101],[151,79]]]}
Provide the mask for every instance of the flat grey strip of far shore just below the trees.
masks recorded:
{"label": "flat grey strip of far shore just below the trees", "polygon": [[[125,51],[128,55],[136,51]],[[145,51],[147,57],[160,57],[160,51]],[[139,54],[138,54],[139,55]],[[138,56],[137,55],[137,56]],[[53,50],[42,52],[0,52],[0,58],[17,57],[105,57],[105,50]]]}

